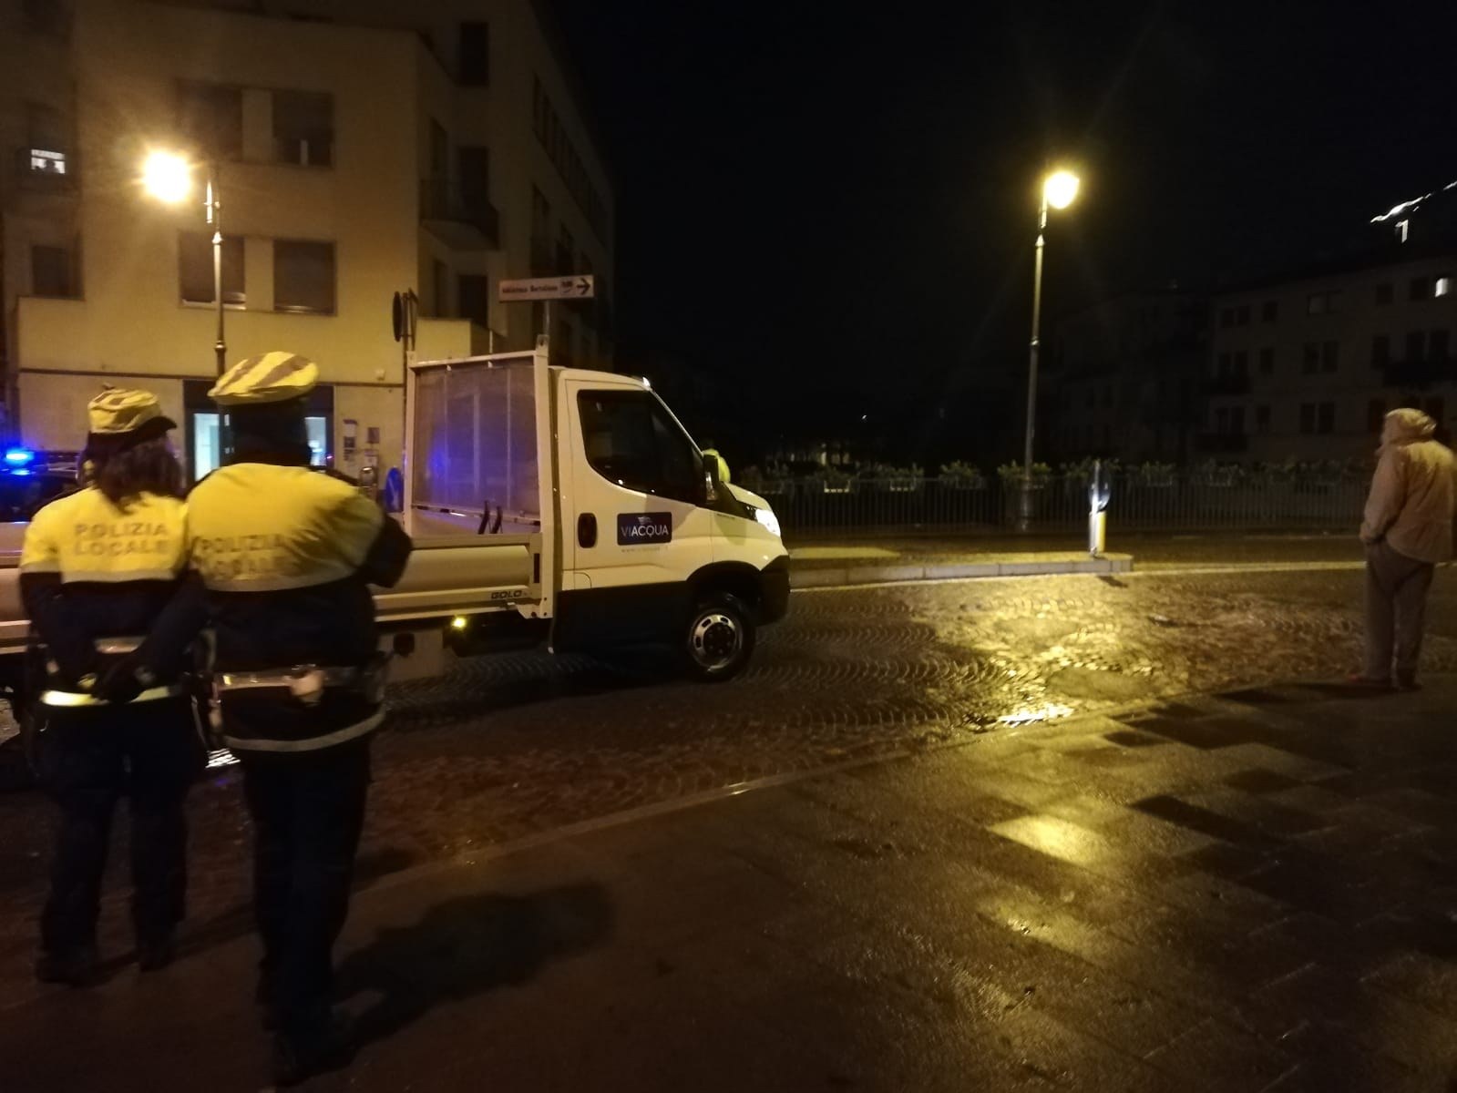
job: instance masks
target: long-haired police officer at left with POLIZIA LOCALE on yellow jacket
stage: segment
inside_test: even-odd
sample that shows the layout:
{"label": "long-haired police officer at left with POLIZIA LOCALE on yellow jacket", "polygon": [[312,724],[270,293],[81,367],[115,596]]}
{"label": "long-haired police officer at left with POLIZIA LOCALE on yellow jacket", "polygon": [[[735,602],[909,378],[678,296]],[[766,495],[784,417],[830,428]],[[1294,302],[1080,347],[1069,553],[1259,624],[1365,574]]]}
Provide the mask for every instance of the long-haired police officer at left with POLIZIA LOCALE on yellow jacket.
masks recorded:
{"label": "long-haired police officer at left with POLIZIA LOCALE on yellow jacket", "polygon": [[111,389],[87,407],[83,488],[25,533],[41,783],[61,807],[41,918],[45,982],[96,975],[111,819],[131,806],[133,925],[143,971],[168,965],[186,888],[182,802],[204,751],[185,685],[201,596],[186,568],[176,426],[156,395]]}

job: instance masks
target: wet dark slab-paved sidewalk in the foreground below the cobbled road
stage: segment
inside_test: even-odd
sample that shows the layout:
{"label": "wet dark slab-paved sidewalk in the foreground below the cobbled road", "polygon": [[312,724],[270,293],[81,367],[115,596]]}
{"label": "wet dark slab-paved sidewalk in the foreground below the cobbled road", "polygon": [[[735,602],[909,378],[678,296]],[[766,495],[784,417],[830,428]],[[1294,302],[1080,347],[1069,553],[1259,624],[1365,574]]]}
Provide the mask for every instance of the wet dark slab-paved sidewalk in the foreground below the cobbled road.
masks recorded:
{"label": "wet dark slab-paved sidewalk in the foreground below the cobbled road", "polygon": [[[411,871],[356,901],[361,1051],[309,1089],[1451,1093],[1454,702],[1002,724]],[[258,1089],[252,963],[7,1008],[7,1093]]]}

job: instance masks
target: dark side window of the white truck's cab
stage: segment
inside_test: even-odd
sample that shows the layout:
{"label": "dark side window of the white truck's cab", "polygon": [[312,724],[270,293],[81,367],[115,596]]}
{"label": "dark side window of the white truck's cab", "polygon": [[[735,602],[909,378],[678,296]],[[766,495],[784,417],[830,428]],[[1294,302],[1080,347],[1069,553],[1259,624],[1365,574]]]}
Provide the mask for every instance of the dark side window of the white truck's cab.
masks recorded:
{"label": "dark side window of the white truck's cab", "polygon": [[577,396],[592,469],[627,490],[696,503],[698,450],[647,391],[584,391]]}

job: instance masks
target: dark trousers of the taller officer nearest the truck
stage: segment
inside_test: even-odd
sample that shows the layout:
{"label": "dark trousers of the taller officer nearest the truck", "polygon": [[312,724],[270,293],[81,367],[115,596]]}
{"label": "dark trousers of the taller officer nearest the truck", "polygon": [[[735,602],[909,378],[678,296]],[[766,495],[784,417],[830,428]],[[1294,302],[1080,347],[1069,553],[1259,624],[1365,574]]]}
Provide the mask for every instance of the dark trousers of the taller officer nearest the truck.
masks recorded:
{"label": "dark trousers of the taller officer nearest the truck", "polygon": [[369,739],[316,752],[239,752],[254,819],[259,1001],[280,1027],[328,1020],[334,943],[350,909],[364,826]]}

